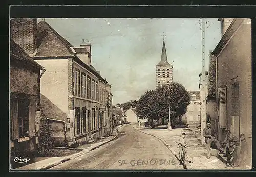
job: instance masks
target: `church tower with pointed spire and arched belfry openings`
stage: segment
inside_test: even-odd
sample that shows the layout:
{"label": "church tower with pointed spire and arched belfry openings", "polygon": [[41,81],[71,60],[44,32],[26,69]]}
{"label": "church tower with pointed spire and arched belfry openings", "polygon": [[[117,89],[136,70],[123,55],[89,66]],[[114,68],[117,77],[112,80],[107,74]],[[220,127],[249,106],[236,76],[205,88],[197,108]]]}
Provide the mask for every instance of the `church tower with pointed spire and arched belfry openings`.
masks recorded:
{"label": "church tower with pointed spire and arched belfry openings", "polygon": [[161,60],[156,65],[156,88],[163,84],[170,84],[173,82],[173,66],[168,63],[165,42],[163,40],[163,48]]}

